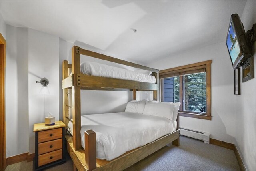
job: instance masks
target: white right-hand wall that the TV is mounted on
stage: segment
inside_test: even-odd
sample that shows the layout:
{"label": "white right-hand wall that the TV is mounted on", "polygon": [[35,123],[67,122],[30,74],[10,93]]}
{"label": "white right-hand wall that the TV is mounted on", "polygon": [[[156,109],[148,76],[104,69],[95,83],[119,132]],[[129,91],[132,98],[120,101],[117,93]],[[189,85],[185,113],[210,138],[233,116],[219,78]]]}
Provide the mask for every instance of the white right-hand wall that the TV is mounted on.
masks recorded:
{"label": "white right-hand wall that the TV is mounted on", "polygon": [[[256,1],[247,1],[241,21],[247,31],[256,23]],[[256,77],[256,43],[254,54],[254,77]],[[241,80],[242,81],[242,80]],[[241,82],[241,95],[235,96],[236,146],[248,171],[256,170],[256,79]]]}

